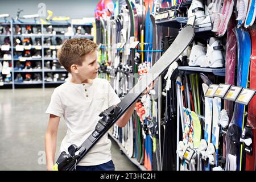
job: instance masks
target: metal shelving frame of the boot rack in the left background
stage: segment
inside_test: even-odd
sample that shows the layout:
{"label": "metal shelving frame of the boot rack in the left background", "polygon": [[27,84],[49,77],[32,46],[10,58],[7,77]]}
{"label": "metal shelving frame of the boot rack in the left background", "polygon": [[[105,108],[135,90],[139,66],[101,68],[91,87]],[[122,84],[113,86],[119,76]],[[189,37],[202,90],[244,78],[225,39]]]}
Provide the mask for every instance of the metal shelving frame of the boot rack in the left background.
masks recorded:
{"label": "metal shelving frame of the boot rack in the left background", "polygon": [[[18,24],[20,26],[26,26],[26,25],[31,25],[31,26],[40,26],[41,27],[41,34],[21,34],[21,35],[15,35],[13,32],[14,31],[14,26]],[[44,79],[44,77],[46,76],[45,73],[48,73],[48,72],[52,72],[52,73],[68,73],[65,69],[55,69],[55,70],[52,70],[52,69],[45,69],[44,68],[44,64],[45,64],[45,61],[51,61],[51,60],[58,60],[57,58],[52,58],[52,57],[44,57],[44,50],[45,49],[55,49],[57,50],[57,47],[56,45],[51,45],[51,46],[46,46],[44,45],[44,38],[46,37],[61,37],[61,38],[87,38],[87,39],[93,39],[93,36],[92,35],[72,35],[72,36],[67,36],[67,35],[49,35],[49,34],[44,34],[45,31],[44,31],[44,26],[45,24],[40,24],[40,23],[32,23],[32,22],[24,22],[24,23],[20,23],[20,22],[10,22],[10,23],[0,23],[0,25],[3,25],[3,26],[10,26],[10,30],[11,30],[11,34],[10,35],[2,35],[0,34],[0,38],[1,37],[6,37],[6,36],[9,36],[10,37],[10,41],[11,41],[11,45],[10,45],[10,52],[11,52],[11,78],[12,78],[12,81],[11,82],[4,82],[3,86],[5,85],[12,85],[11,88],[15,89],[15,85],[42,85],[42,88],[45,88],[46,85],[53,85],[53,84],[63,84],[65,81],[46,81]],[[72,23],[50,23],[50,24],[46,24],[46,26],[49,26],[49,25],[52,25],[52,26],[60,26],[60,27],[63,27],[63,28],[67,28],[68,26],[71,26],[72,27],[72,30],[73,30],[73,25],[74,26],[90,26],[92,27],[92,23],[84,23],[84,24],[72,24]],[[20,37],[20,38],[41,38],[41,55],[42,57],[40,58],[26,58],[26,57],[23,57],[22,59],[25,59],[23,61],[41,61],[42,63],[42,69],[32,69],[32,70],[22,70],[22,71],[16,71],[14,70],[14,67],[15,67],[15,62],[16,61],[20,61],[19,58],[14,58],[14,51],[15,51],[15,46],[14,46],[14,38],[16,37]],[[36,46],[31,46],[29,49],[27,50],[30,50],[30,49],[36,49]],[[25,51],[26,49],[24,49]],[[6,61],[5,59],[0,59],[0,61]],[[9,60],[10,61],[10,60]],[[41,73],[42,74],[42,81],[40,82],[36,82],[36,81],[32,81],[32,82],[15,82],[15,74],[16,73]],[[0,86],[0,89],[3,88],[3,86]]]}

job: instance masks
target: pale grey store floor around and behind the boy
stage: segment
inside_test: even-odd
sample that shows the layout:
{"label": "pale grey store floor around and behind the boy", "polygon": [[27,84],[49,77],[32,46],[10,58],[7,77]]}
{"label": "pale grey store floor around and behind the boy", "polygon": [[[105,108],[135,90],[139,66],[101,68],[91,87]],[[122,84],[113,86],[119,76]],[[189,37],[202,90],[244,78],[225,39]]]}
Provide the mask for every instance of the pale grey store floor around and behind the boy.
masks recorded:
{"label": "pale grey store floor around and behind the boy", "polygon": [[[45,114],[53,88],[0,90],[0,170],[45,170],[44,134],[48,123]],[[66,133],[61,119],[57,135],[56,157]],[[112,140],[115,170],[138,170],[119,152]]]}

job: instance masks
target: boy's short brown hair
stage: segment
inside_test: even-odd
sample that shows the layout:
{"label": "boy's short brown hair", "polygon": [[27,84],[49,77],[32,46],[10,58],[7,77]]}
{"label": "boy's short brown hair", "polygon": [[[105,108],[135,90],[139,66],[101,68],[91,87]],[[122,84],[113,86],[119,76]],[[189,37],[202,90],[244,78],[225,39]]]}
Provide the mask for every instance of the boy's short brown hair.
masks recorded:
{"label": "boy's short brown hair", "polygon": [[93,51],[97,51],[98,46],[89,39],[69,39],[66,40],[57,51],[59,62],[69,73],[71,65],[82,65],[84,56]]}

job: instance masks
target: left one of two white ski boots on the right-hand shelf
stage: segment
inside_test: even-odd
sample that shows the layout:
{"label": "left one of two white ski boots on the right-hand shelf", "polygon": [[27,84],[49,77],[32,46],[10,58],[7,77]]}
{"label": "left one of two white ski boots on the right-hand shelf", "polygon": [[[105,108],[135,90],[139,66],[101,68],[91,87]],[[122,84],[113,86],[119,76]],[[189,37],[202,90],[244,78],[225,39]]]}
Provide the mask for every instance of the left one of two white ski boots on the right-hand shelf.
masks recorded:
{"label": "left one of two white ski boots on the right-hand shelf", "polygon": [[205,55],[205,47],[203,45],[196,45],[193,43],[193,47],[189,56],[189,67],[200,67],[200,65],[205,61]]}

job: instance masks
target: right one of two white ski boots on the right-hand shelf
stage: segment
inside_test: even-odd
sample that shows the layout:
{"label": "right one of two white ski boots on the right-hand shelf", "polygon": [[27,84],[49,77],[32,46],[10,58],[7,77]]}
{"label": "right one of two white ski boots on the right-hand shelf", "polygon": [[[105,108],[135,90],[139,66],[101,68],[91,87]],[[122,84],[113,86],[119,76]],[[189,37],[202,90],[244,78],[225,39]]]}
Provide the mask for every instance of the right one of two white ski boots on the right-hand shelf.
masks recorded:
{"label": "right one of two white ski boots on the right-hand shelf", "polygon": [[205,61],[201,68],[221,68],[224,66],[223,46],[217,38],[210,38],[207,44]]}

